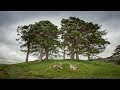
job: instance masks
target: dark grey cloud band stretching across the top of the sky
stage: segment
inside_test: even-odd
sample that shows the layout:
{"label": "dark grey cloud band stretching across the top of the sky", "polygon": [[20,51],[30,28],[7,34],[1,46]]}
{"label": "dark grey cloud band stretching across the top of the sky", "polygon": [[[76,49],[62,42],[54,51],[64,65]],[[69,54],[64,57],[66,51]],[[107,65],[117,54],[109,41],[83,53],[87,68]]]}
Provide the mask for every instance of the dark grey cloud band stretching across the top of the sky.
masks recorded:
{"label": "dark grey cloud band stretching across the top of the sky", "polygon": [[103,21],[114,20],[120,17],[119,11],[1,11],[0,26],[22,21],[32,17],[51,17],[51,16],[77,16],[86,20],[100,19]]}

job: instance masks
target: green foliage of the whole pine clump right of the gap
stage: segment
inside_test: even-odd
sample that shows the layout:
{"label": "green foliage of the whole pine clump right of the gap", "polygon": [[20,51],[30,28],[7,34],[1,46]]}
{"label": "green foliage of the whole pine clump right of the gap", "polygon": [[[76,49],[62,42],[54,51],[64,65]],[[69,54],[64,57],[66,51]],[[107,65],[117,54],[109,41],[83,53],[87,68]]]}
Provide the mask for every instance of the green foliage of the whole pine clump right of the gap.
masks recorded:
{"label": "green foliage of the whole pine clump right of the gap", "polygon": [[[74,57],[75,53],[78,57],[79,54],[94,56],[103,52],[106,45],[110,44],[103,38],[107,33],[100,31],[101,26],[98,24],[88,23],[76,17],[69,17],[62,19],[61,32],[63,39],[62,46],[67,47]],[[77,58],[76,59],[79,59]]]}

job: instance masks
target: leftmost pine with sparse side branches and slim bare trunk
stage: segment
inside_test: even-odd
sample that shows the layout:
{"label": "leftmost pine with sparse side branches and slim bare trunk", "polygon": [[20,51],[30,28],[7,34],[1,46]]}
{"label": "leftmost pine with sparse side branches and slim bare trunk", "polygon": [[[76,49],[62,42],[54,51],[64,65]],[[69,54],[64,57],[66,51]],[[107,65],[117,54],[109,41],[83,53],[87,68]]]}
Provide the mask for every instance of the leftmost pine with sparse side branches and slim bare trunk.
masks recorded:
{"label": "leftmost pine with sparse side branches and slim bare trunk", "polygon": [[32,45],[32,41],[34,36],[32,35],[32,24],[24,25],[24,26],[18,26],[17,28],[17,35],[19,36],[18,39],[16,39],[17,41],[19,41],[20,43],[20,48],[24,48],[26,47],[26,50],[21,50],[23,52],[27,52],[26,54],[26,62],[28,62],[28,57],[29,57],[29,53],[30,53],[30,49],[31,49],[31,45]]}

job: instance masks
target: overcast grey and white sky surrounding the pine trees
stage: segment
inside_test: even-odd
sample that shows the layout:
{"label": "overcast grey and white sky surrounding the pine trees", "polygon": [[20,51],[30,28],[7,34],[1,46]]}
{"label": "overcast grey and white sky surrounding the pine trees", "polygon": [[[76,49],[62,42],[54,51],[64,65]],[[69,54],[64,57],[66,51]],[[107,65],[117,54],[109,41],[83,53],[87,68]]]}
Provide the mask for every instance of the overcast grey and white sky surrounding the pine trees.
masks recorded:
{"label": "overcast grey and white sky surrounding the pine trees", "polygon": [[[108,32],[105,38],[111,44],[98,56],[109,57],[116,46],[120,45],[120,11],[0,11],[0,64],[25,61],[26,53],[20,51],[20,45],[16,41],[18,26],[50,20],[60,28],[62,18],[70,16],[102,25],[101,29]],[[30,61],[35,59],[30,55]],[[87,58],[80,56],[80,59]]]}

